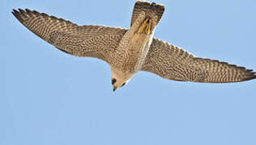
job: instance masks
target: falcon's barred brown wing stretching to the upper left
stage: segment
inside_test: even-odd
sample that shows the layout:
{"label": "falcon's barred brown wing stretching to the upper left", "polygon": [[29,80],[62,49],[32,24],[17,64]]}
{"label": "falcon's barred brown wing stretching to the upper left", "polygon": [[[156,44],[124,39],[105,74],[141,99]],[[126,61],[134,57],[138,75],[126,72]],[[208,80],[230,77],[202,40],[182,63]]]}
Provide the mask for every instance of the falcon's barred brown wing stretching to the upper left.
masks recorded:
{"label": "falcon's barred brown wing stretching to the upper left", "polygon": [[38,13],[36,10],[13,10],[12,14],[30,31],[74,56],[90,56],[111,61],[126,29],[103,26],[78,26],[75,23]]}

